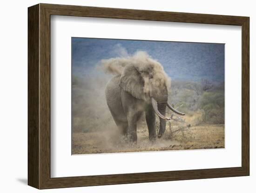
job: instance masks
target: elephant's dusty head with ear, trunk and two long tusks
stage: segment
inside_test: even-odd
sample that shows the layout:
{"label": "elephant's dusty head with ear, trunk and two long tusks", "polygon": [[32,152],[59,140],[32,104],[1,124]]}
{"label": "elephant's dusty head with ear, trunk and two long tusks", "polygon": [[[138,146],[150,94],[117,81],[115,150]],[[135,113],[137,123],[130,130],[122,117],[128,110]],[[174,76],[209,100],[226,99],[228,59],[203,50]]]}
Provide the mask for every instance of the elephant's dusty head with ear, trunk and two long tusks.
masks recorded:
{"label": "elephant's dusty head with ear, trunk and two long tusks", "polygon": [[179,115],[185,115],[174,109],[168,103],[168,87],[170,79],[163,70],[160,63],[152,58],[135,59],[132,64],[124,66],[119,86],[137,99],[152,104],[157,116],[160,117],[160,129],[158,137],[161,137],[165,131],[166,107]]}

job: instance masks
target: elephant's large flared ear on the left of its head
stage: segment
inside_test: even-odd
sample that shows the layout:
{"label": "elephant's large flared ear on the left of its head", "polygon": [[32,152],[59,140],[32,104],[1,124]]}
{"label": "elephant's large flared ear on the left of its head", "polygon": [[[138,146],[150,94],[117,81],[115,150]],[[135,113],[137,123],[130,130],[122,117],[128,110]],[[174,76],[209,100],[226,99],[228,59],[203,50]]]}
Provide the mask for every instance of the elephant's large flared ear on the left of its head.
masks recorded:
{"label": "elephant's large flared ear on the left of its head", "polygon": [[134,65],[127,65],[121,75],[119,86],[135,98],[145,100],[144,81]]}

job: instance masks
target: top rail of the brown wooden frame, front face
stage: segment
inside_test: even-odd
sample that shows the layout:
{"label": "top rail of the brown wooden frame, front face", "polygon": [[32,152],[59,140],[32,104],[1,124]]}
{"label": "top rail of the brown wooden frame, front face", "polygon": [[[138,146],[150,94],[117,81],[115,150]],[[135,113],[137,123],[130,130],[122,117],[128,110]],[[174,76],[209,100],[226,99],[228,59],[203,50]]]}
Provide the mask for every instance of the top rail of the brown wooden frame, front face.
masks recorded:
{"label": "top rail of the brown wooden frame, front face", "polygon": [[221,25],[242,25],[246,17],[212,15],[199,13],[177,13],[107,7],[70,6],[40,4],[52,15],[83,16],[96,18],[139,19],[153,21],[172,21],[185,23],[204,23]]}

